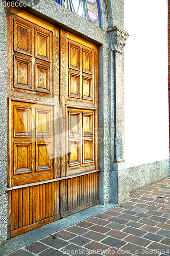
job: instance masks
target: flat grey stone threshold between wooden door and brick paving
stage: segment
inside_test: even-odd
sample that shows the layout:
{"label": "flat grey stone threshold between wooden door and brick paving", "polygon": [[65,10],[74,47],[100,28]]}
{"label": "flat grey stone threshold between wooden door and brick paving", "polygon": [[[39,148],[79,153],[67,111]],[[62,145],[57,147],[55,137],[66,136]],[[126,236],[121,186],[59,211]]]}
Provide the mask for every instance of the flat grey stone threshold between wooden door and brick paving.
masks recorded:
{"label": "flat grey stone threshold between wooden door and brick paving", "polygon": [[30,230],[26,233],[20,234],[17,237],[7,240],[7,243],[1,248],[1,256],[13,252],[23,246],[34,243],[37,240],[43,239],[50,234],[60,231],[61,229],[72,226],[94,215],[100,214],[101,212],[110,209],[116,205],[117,204],[112,203],[108,203],[105,205],[97,204],[85,210],[79,211],[76,214],[72,214],[66,218],[54,221],[52,223]]}

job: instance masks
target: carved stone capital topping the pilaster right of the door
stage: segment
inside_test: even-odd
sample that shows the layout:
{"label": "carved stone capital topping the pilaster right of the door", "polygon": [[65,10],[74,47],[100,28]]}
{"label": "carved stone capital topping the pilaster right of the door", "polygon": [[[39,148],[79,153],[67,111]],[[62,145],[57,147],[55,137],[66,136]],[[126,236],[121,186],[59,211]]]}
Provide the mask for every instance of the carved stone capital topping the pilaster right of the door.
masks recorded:
{"label": "carved stone capital topping the pilaster right of the door", "polygon": [[129,33],[117,28],[117,26],[108,29],[108,32],[111,50],[123,53],[125,41],[128,39]]}

